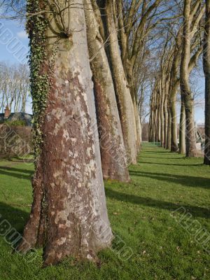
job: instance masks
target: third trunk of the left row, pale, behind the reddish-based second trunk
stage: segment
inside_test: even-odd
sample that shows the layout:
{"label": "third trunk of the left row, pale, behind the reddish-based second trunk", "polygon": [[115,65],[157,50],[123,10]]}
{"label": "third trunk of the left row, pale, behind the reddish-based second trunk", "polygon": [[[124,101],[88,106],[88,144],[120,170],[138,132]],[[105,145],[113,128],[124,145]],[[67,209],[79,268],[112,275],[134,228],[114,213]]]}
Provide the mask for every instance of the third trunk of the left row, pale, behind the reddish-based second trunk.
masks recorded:
{"label": "third trunk of the left row, pale, behind the reddish-based second trunk", "polygon": [[113,20],[113,1],[107,0],[105,10],[106,29],[109,38],[109,55],[111,60],[111,71],[116,89],[120,122],[123,130],[123,139],[127,153],[128,163],[137,163],[137,126],[134,113],[134,104],[127,84],[123,62],[120,56],[118,34],[116,24]]}

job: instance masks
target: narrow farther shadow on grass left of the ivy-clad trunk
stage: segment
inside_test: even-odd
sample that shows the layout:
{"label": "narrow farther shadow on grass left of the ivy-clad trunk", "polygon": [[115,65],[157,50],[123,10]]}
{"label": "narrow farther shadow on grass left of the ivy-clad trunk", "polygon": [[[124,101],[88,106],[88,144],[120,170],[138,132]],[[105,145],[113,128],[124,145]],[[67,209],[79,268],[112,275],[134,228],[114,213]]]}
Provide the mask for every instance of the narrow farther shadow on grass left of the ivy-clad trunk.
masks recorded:
{"label": "narrow farther shadow on grass left of the ivy-clad trunk", "polygon": [[34,172],[27,169],[18,169],[14,167],[0,167],[0,175],[13,176],[18,179],[30,180],[32,174],[34,174]]}

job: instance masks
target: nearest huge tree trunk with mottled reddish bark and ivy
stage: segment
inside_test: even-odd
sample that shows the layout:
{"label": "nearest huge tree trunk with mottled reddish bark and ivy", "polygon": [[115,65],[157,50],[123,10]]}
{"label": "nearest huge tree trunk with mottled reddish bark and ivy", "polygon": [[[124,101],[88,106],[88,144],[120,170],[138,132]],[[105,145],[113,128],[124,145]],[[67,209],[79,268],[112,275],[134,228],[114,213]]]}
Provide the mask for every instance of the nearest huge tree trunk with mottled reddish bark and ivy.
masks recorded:
{"label": "nearest huge tree trunk with mottled reddish bark and ivy", "polygon": [[[42,3],[29,3],[29,12],[52,9]],[[40,153],[36,155],[34,203],[19,250],[25,252],[42,243],[45,265],[68,255],[94,259],[112,239],[98,134],[92,127],[96,116],[83,1],[71,3],[73,8],[66,9],[65,3],[60,2],[65,29],[59,25],[61,19],[54,18],[55,13],[48,13],[49,25],[39,16],[28,22],[31,90],[37,121],[34,127],[39,127],[41,141],[36,147]],[[44,28],[40,29],[41,25]],[[36,64],[40,49],[43,54]],[[37,66],[39,74],[35,75]],[[44,77],[49,78],[50,87],[43,101]],[[39,111],[43,102],[44,110]]]}

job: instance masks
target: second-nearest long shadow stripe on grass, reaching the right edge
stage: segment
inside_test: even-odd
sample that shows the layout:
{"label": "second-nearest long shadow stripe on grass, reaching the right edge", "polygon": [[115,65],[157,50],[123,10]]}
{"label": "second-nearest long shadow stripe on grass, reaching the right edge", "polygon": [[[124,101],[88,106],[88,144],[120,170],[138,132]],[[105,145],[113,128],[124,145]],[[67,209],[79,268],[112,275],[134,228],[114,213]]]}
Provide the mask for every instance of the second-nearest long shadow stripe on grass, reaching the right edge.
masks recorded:
{"label": "second-nearest long shadow stripe on grass, reaching the right edge", "polygon": [[[186,165],[185,165],[186,166]],[[130,171],[130,175],[133,176],[144,176],[158,181],[165,181],[167,183],[177,183],[184,187],[196,187],[196,188],[207,188],[210,189],[210,179],[202,177],[193,177],[187,175],[176,175],[176,174],[161,174],[161,173],[150,173],[150,172],[137,172]]]}

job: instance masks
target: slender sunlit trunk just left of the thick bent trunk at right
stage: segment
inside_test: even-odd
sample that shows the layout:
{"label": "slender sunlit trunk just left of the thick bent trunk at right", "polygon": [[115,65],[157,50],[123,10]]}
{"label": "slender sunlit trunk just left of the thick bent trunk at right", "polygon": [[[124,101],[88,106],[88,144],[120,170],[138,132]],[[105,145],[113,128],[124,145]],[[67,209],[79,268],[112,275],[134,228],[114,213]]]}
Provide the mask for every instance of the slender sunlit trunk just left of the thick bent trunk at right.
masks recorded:
{"label": "slender sunlit trunk just left of the thick bent trunk at right", "polygon": [[186,153],[186,109],[181,97],[181,113],[179,122],[179,153]]}

